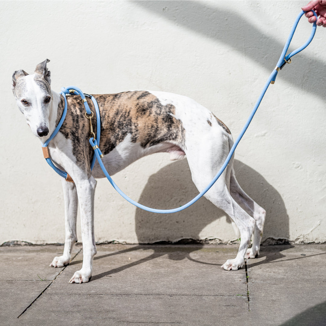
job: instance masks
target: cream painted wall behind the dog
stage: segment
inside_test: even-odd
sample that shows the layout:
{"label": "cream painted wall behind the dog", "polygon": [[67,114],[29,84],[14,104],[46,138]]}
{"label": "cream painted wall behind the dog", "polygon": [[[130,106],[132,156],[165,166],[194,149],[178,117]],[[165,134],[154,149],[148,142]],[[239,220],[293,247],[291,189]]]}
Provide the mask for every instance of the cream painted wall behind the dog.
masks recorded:
{"label": "cream painted wall behind the dog", "polygon": [[[15,104],[15,70],[33,73],[49,58],[56,91],[72,84],[90,94],[150,89],[190,96],[236,138],[305,2],[1,1],[0,243],[64,242],[60,177]],[[292,50],[310,29],[302,19]],[[239,183],[267,211],[263,240],[326,241],[325,39],[317,28],[312,44],[279,73],[236,151]],[[171,162],[168,154],[143,158],[114,180],[156,208],[178,207],[197,194],[187,161]],[[104,179],[95,197],[97,242],[235,239],[229,218],[206,199],[178,214],[150,214]]]}

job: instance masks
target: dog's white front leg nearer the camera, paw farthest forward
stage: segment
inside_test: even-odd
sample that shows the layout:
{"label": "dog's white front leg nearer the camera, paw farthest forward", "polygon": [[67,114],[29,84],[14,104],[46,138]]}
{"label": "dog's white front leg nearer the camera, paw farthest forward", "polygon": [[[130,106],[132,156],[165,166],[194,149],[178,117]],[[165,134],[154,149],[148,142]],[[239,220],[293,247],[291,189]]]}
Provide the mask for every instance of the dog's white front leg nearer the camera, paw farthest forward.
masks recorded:
{"label": "dog's white front leg nearer the camera, paw farthest forward", "polygon": [[96,255],[94,237],[94,194],[96,180],[91,176],[87,180],[76,181],[81,211],[83,262],[82,269],[75,272],[69,283],[86,283],[92,276],[93,257]]}

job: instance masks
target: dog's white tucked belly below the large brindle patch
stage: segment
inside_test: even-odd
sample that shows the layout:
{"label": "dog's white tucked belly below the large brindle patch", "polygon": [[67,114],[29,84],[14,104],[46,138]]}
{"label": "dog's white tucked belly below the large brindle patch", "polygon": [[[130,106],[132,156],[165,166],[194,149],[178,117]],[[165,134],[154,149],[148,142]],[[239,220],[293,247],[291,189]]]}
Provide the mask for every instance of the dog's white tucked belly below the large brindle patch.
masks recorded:
{"label": "dog's white tucked belly below the large brindle patch", "polygon": [[[185,157],[185,152],[179,146],[170,142],[163,141],[157,145],[143,148],[140,143],[132,142],[131,138],[131,134],[127,135],[121,143],[119,143],[109,154],[102,158],[102,162],[110,175],[123,170],[129,164],[149,154],[162,152],[169,153],[171,160],[182,159]],[[97,160],[94,165],[92,175],[94,178],[105,177]]]}

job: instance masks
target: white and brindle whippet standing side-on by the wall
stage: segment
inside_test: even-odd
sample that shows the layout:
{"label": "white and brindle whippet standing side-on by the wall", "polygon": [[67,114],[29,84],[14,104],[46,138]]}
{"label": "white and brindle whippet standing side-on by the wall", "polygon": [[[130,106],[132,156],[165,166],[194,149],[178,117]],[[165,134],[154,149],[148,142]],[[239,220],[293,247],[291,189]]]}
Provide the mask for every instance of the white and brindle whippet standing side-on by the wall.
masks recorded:
{"label": "white and brindle whippet standing side-on by the wall", "polygon": [[[51,89],[49,60],[37,65],[34,74],[24,70],[13,74],[13,94],[33,134],[44,143],[57,126],[65,101]],[[229,128],[215,115],[194,100],[171,93],[128,91],[118,94],[94,95],[101,115],[103,163],[110,175],[137,159],[159,152],[170,154],[171,160],[185,156],[194,184],[202,191],[215,177],[233,145]],[[92,102],[89,101],[90,107]],[[96,133],[96,117],[93,118]],[[74,183],[62,178],[65,196],[65,246],[63,255],[54,257],[50,266],[69,264],[77,241],[76,219],[78,202],[81,211],[83,263],[69,283],[88,282],[96,254],[94,237],[94,193],[96,178],[104,174],[98,162],[90,169],[94,151],[89,144],[89,120],[80,96],[67,96],[67,116],[49,143],[54,164],[70,175]],[[221,267],[237,270],[244,259],[255,258],[263,232],[266,212],[239,186],[232,168],[233,157],[220,178],[205,194],[216,207],[232,220],[240,235],[235,259]],[[190,208],[191,209],[191,208]],[[253,244],[250,249],[251,236]]]}

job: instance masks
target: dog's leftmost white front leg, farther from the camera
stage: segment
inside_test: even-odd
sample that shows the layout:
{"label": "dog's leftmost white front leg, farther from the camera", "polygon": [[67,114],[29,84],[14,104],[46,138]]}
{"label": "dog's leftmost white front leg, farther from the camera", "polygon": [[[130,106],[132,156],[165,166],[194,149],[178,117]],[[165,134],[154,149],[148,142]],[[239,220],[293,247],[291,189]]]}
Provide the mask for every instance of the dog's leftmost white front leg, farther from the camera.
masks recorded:
{"label": "dog's leftmost white front leg, farther from the camera", "polygon": [[63,255],[54,257],[50,266],[63,267],[69,264],[71,258],[71,251],[77,241],[76,233],[76,220],[78,209],[78,197],[76,185],[71,182],[67,182],[62,178],[62,187],[65,198],[65,247]]}

